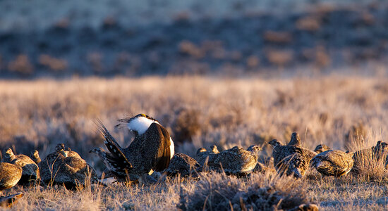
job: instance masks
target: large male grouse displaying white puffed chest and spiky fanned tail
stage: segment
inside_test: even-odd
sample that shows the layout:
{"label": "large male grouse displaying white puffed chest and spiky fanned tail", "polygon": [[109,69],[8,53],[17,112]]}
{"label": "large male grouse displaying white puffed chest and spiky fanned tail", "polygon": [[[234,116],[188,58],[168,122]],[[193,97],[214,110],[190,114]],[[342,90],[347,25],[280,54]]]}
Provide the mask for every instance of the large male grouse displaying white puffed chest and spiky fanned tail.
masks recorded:
{"label": "large male grouse displaying white puffed chest and spiky fanned tail", "polygon": [[109,150],[109,153],[100,151],[99,157],[117,181],[145,180],[148,174],[169,167],[174,156],[174,141],[157,120],[139,114],[119,122],[116,127],[126,126],[135,135],[128,148],[121,148],[102,122],[97,124]]}

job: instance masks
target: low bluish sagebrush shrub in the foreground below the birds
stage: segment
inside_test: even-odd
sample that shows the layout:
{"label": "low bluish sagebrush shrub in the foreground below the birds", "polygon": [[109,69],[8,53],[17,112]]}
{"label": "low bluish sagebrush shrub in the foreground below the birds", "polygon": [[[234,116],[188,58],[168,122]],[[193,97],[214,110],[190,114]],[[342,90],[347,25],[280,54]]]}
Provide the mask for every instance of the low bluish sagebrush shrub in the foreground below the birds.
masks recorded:
{"label": "low bluish sagebrush shrub in the foreground below the birds", "polygon": [[288,210],[310,203],[305,183],[275,174],[237,179],[226,174],[202,174],[194,186],[181,188],[182,210]]}

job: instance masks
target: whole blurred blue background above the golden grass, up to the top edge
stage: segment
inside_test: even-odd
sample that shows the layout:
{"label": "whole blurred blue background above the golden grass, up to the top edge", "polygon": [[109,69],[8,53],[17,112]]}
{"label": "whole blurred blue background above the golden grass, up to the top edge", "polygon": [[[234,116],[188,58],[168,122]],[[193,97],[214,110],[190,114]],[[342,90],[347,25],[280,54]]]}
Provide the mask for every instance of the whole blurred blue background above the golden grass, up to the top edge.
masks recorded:
{"label": "whole blurred blue background above the golden grass, up to the top edge", "polygon": [[387,37],[386,1],[6,0],[0,76],[375,72]]}

